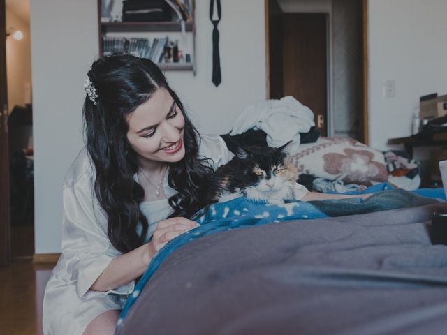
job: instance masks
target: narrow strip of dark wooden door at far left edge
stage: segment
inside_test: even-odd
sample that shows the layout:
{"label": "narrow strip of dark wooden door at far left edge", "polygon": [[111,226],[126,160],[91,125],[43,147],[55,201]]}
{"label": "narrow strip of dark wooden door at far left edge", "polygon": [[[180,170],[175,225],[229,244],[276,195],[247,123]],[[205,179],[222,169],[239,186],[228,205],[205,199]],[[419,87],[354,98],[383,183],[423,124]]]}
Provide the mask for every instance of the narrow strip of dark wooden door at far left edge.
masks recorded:
{"label": "narrow strip of dark wooden door at far left edge", "polygon": [[0,266],[8,266],[10,265],[10,200],[5,0],[0,0],[0,8]]}

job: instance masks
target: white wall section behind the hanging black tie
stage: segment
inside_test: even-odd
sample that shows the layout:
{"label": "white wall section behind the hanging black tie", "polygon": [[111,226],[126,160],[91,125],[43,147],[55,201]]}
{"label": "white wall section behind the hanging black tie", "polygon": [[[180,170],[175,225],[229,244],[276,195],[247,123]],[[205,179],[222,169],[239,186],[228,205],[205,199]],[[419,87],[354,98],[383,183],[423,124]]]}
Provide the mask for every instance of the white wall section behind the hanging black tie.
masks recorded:
{"label": "white wall section behind the hanging black tie", "polygon": [[222,82],[212,78],[210,1],[196,0],[197,73],[166,73],[168,81],[203,133],[228,133],[245,106],[265,99],[263,0],[221,1],[219,22]]}

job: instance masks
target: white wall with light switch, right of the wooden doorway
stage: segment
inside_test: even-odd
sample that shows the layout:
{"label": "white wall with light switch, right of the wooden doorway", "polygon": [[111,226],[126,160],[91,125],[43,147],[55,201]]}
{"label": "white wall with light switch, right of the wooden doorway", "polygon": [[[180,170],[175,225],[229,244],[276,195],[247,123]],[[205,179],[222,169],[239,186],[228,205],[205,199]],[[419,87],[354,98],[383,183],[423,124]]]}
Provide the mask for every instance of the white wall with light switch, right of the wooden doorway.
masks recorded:
{"label": "white wall with light switch, right of the wooden doorway", "polygon": [[[411,135],[419,97],[447,93],[447,1],[369,0],[369,145]],[[395,80],[395,98],[383,98]]]}

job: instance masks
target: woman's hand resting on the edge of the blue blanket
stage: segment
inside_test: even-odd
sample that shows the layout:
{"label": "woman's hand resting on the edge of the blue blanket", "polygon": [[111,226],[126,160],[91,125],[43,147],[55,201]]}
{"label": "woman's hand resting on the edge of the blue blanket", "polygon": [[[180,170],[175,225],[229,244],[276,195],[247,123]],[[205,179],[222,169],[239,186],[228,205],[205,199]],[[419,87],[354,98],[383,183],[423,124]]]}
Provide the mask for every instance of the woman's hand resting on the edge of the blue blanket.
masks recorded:
{"label": "woman's hand resting on the edge of the blue blanket", "polygon": [[198,223],[181,217],[160,221],[149,242],[149,258],[152,259],[171,239],[198,226]]}

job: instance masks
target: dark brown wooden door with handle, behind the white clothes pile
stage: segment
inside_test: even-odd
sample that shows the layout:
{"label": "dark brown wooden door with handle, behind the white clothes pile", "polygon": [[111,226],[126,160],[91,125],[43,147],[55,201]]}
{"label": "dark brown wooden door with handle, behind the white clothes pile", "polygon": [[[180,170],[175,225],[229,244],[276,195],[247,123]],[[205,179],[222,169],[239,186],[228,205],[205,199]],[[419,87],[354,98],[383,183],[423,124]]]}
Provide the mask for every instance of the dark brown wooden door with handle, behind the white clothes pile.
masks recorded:
{"label": "dark brown wooden door with handle, behind the white clothes pile", "polygon": [[266,0],[268,98],[293,96],[315,114],[316,128],[327,135],[328,15],[283,13]]}

